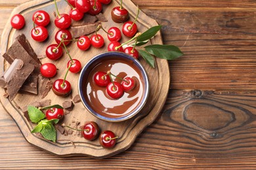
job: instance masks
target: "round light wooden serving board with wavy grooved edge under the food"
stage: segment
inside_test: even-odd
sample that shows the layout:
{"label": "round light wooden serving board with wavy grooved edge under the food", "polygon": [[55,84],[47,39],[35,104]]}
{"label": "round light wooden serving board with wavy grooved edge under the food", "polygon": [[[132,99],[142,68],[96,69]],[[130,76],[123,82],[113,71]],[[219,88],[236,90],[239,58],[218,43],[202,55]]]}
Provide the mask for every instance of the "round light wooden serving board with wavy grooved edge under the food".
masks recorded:
{"label": "round light wooden serving board with wavy grooved edge under the food", "polygon": [[[65,1],[57,1],[57,4],[60,13],[69,12],[70,7],[68,7]],[[122,26],[122,24],[114,23],[110,17],[111,9],[118,5],[119,1],[112,1],[110,5],[103,5],[102,13],[104,14],[108,22],[102,22],[102,26],[106,30],[108,30],[108,28],[112,26],[116,26],[119,28],[121,28]],[[129,10],[130,20],[134,20],[137,13],[136,5],[134,5],[131,1],[123,1],[123,7]],[[49,38],[45,42],[35,42],[30,36],[30,31],[33,27],[32,14],[39,9],[49,12],[51,16],[51,24],[47,26],[47,29],[49,31]],[[11,17],[9,18],[9,21],[6,24],[1,39],[1,54],[3,55],[7,51],[7,49],[14,42],[17,35],[24,33],[24,35],[26,35],[28,41],[32,45],[32,48],[35,50],[37,56],[45,56],[46,47],[49,46],[49,44],[55,43],[54,34],[56,33],[56,31],[58,31],[58,29],[54,26],[54,11],[54,2],[49,0],[30,1],[28,3],[20,5],[19,7],[16,7],[16,9],[12,11],[11,16],[16,13],[22,14],[26,19],[26,26],[21,30],[12,29],[11,24],[9,24]],[[144,32],[148,28],[154,25],[158,25],[158,23],[155,20],[152,20],[152,18],[146,16],[146,14],[144,14],[143,12],[140,12],[139,18],[137,20],[137,25],[139,31]],[[95,56],[96,54],[105,52],[107,50],[106,44],[108,44],[109,41],[108,39],[106,39],[106,34],[102,30],[100,30],[99,33],[101,35],[104,35],[105,37],[105,46],[103,48],[97,49],[91,46],[89,50],[83,52],[77,48],[75,42],[72,42],[68,46],[68,49],[70,50],[70,55],[73,58],[79,59],[82,65],[85,65],[85,63],[87,63],[87,61],[93,58],[93,56]],[[121,42],[125,41],[127,41],[127,38],[123,36]],[[161,34],[158,33],[148,43],[162,44]],[[64,56],[62,56],[62,58],[58,59],[57,61],[50,61],[50,59],[48,58],[43,58],[41,59],[41,62],[52,62],[56,64],[56,67],[58,67],[58,74],[53,78],[53,80],[55,80],[56,78],[64,78],[64,74],[66,72],[66,63],[68,60],[69,58],[67,54],[64,54]],[[62,122],[64,122],[65,124],[70,125],[73,125],[74,122],[80,122],[80,125],[82,125],[87,121],[95,121],[98,123],[101,130],[109,129],[114,131],[119,139],[117,140],[116,146],[112,149],[102,148],[102,146],[100,146],[98,142],[98,139],[96,139],[95,141],[87,141],[83,139],[83,137],[81,137],[77,133],[77,131],[73,131],[71,135],[62,135],[58,131],[56,143],[47,141],[36,133],[30,133],[33,127],[35,127],[35,124],[32,124],[32,122],[30,122],[26,118],[26,116],[24,116],[24,113],[21,111],[20,108],[26,107],[34,101],[43,101],[46,99],[51,99],[51,105],[62,105],[64,101],[71,100],[72,97],[78,94],[77,81],[79,74],[68,74],[67,79],[72,84],[73,90],[72,95],[70,95],[69,97],[58,97],[54,95],[52,90],[50,90],[50,92],[44,99],[41,99],[41,95],[18,93],[13,101],[9,101],[8,98],[3,97],[5,90],[1,88],[1,104],[15,120],[16,124],[20,128],[20,131],[29,143],[58,156],[73,156],[83,154],[85,156],[91,156],[93,158],[106,158],[129,148],[129,146],[133,144],[136,137],[142,132],[142,130],[146,126],[154,122],[154,120],[158,117],[158,114],[160,114],[160,111],[165,103],[170,82],[169,66],[167,61],[164,59],[156,59],[155,69],[151,68],[143,59],[140,59],[140,61],[146,68],[150,79],[150,96],[148,98],[146,106],[143,110],[141,110],[139,114],[137,114],[137,116],[134,116],[129,120],[125,120],[124,122],[105,122],[104,120],[99,120],[98,118],[95,118],[95,116],[91,115],[85,109],[83,104],[79,102],[75,103],[72,112],[70,112],[70,114],[66,114],[64,120],[62,120]],[[7,61],[5,61],[2,57],[1,65],[3,66],[2,71],[5,71],[7,67],[9,67]]]}

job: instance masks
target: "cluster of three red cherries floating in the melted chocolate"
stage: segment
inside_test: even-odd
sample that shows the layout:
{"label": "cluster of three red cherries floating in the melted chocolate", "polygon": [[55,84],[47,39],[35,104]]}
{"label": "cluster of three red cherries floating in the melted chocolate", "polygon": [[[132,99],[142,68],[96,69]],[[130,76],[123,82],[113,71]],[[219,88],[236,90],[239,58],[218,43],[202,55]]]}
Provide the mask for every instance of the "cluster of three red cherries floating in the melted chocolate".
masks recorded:
{"label": "cluster of three red cherries floating in the melted chocolate", "polygon": [[[121,83],[114,81],[112,76],[121,80]],[[106,92],[112,99],[119,99],[123,96],[124,92],[129,92],[135,88],[135,80],[130,76],[125,76],[125,78],[119,78],[108,71],[98,71],[93,76],[93,80],[97,86],[106,87]]]}

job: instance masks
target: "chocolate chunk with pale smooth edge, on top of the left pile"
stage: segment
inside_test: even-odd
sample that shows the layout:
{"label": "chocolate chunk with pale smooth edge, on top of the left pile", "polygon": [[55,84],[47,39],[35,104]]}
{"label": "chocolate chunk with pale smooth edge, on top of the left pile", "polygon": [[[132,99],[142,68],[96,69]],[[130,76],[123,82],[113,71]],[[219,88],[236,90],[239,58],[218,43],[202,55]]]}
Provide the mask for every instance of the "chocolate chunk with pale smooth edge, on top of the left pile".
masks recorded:
{"label": "chocolate chunk with pale smooth edge, on top of the left pile", "polygon": [[5,82],[7,82],[7,94],[10,100],[14,99],[34,68],[34,65],[30,63],[25,63],[21,59],[14,59],[4,75]]}

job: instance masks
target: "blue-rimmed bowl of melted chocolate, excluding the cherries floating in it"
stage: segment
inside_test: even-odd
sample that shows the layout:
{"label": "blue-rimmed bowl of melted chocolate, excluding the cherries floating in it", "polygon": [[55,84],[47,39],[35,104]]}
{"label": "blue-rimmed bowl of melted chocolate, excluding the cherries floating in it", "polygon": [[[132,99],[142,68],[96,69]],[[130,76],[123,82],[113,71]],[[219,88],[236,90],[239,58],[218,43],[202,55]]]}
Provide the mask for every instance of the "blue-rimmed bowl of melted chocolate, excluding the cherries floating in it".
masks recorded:
{"label": "blue-rimmed bowl of melted chocolate, excluding the cherries floating in it", "polygon": [[[110,71],[124,78],[135,80],[135,88],[125,92],[119,99],[112,99],[106,93],[106,87],[97,86],[93,76],[97,71]],[[115,78],[117,82],[121,82]],[[97,118],[110,122],[127,120],[137,114],[148,98],[149,82],[140,62],[123,52],[105,52],[92,58],[82,69],[78,82],[79,95],[83,105]]]}

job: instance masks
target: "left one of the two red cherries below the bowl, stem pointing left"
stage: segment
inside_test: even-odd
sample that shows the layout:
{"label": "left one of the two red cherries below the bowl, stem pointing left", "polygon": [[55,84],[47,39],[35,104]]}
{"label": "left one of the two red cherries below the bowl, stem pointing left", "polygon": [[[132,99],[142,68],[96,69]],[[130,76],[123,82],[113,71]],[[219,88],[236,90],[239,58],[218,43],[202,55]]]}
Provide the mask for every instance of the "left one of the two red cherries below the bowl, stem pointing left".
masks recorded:
{"label": "left one of the two red cherries below the bowl, stem pointing left", "polygon": [[100,128],[96,122],[86,122],[83,126],[83,131],[81,131],[83,137],[89,141],[93,141],[98,137]]}

